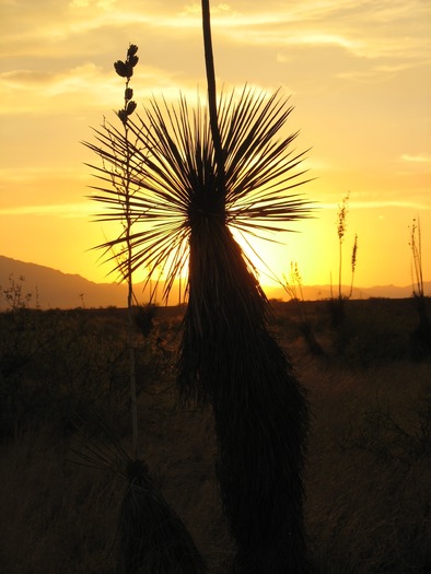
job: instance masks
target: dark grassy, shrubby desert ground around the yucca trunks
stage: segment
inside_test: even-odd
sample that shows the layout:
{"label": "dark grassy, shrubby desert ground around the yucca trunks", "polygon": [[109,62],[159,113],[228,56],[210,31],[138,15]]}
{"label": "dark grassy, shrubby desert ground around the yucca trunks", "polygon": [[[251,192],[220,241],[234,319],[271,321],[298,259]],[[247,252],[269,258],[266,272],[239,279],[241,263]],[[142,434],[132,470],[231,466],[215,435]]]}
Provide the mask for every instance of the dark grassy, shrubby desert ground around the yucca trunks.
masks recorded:
{"label": "dark grassy, shrubby desert ground around the yucca trunks", "polygon": [[[330,302],[272,308],[271,328],[311,405],[305,526],[314,571],[430,572],[431,360],[413,300],[349,301],[336,323]],[[140,457],[208,572],[230,574],[212,414],[177,400],[182,317],[179,307],[140,316]],[[124,495],[115,445],[128,449],[131,434],[126,324],[114,308],[0,314],[4,574],[115,572]],[[112,470],[78,464],[77,452],[103,452]]]}

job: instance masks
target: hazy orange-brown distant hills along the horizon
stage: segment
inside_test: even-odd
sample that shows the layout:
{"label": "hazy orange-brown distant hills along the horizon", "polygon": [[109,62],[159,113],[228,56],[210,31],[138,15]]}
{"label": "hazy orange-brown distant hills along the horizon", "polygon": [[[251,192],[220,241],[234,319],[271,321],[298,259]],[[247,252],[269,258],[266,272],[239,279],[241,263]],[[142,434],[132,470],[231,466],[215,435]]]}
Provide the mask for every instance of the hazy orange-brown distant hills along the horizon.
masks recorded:
{"label": "hazy orange-brown distant hills along the horizon", "polygon": [[[20,278],[24,280],[21,281]],[[30,306],[36,304],[40,308],[74,308],[85,307],[125,307],[127,302],[127,286],[117,283],[94,283],[78,274],[68,274],[49,267],[36,263],[18,261],[0,256],[0,308],[5,308],[3,291],[10,289],[10,278],[22,284],[22,293],[32,294]],[[142,293],[142,285],[136,285],[136,293],[142,302],[148,301],[148,295]],[[345,289],[345,292],[348,288]],[[269,298],[289,298],[282,288],[266,289]],[[426,283],[426,293],[431,294],[431,282]],[[324,300],[330,297],[329,285],[315,285],[303,288],[304,298]],[[411,296],[411,285],[398,288],[395,285],[356,288],[352,298],[389,297],[405,298]],[[172,303],[178,301],[177,292],[172,295]]]}

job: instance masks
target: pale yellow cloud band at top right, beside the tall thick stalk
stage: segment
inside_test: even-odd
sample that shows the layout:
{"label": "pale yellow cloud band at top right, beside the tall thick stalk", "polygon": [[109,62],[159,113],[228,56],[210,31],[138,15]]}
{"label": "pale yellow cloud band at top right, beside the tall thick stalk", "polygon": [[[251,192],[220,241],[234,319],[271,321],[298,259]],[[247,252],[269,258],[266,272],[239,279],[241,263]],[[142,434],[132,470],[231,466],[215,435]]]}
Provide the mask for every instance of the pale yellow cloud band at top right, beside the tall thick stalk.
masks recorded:
{"label": "pale yellow cloud band at top right, beside the tall thick stalk", "polygon": [[[326,1],[247,4],[234,17],[213,19],[233,43],[270,46],[339,46],[361,58],[429,61],[431,8],[410,2]],[[366,31],[366,32],[365,32]]]}

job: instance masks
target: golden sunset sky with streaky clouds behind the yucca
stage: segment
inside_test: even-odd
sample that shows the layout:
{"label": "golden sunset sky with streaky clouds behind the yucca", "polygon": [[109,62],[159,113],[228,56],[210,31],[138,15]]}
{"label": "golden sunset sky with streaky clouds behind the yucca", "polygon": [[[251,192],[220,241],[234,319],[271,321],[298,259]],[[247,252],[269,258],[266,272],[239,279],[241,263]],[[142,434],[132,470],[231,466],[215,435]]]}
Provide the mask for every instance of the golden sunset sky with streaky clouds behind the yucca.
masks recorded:
{"label": "golden sunset sky with streaky clouds behind the yucca", "polygon": [[[316,178],[316,216],[283,245],[258,245],[278,276],[305,284],[338,273],[337,206],[349,192],[345,282],[408,285],[409,226],[420,218],[431,280],[431,3],[428,0],[241,0],[211,3],[218,86],[290,95],[289,132]],[[115,122],[130,43],[138,106],[153,94],[205,95],[200,3],[179,0],[0,0],[0,255],[110,281],[91,248],[109,227],[86,199],[97,163],[80,142]],[[141,278],[138,278],[141,279]],[[261,278],[266,283],[266,278]]]}

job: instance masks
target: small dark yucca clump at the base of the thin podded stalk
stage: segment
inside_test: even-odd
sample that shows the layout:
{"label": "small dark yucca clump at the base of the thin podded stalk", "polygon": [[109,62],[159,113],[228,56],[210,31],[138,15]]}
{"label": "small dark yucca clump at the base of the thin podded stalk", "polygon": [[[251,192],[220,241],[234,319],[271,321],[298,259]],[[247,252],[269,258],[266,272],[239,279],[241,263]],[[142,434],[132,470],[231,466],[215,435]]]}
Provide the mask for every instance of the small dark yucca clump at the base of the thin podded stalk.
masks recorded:
{"label": "small dark yucca clump at the base of the thin podded stalk", "polygon": [[94,431],[77,427],[79,465],[115,472],[126,480],[118,519],[118,574],[203,574],[206,564],[187,528],[153,483],[144,460],[131,458],[112,430],[95,417]]}

